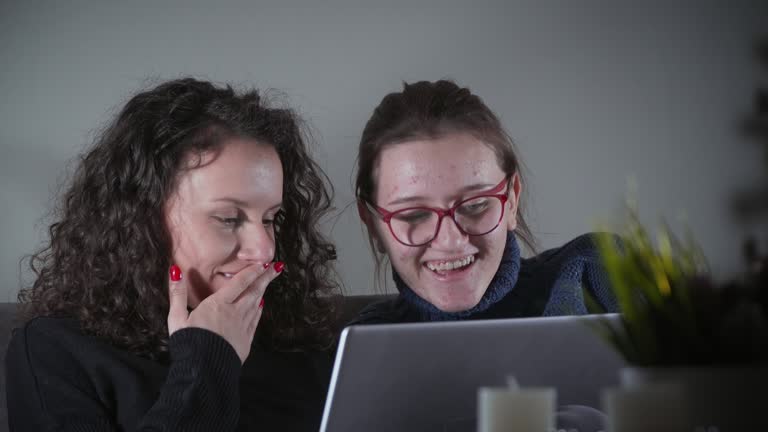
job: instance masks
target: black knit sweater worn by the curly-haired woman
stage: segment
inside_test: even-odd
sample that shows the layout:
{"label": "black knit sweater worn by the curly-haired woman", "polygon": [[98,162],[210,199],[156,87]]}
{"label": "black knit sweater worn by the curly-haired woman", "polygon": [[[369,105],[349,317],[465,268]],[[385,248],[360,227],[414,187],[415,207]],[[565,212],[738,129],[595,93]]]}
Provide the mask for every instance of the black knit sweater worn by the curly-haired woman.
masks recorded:
{"label": "black knit sweater worn by the curly-haired woman", "polygon": [[331,352],[266,352],[241,366],[208,330],[179,330],[170,363],[86,336],[74,321],[36,318],[6,356],[11,431],[316,431]]}

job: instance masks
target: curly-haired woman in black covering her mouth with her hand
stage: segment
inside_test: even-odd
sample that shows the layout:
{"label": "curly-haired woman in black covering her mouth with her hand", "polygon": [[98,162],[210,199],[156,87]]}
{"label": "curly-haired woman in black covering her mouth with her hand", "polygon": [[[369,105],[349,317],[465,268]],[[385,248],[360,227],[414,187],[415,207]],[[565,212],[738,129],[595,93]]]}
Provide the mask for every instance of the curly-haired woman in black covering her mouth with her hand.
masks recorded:
{"label": "curly-haired woman in black covering her mouth with her hand", "polygon": [[329,206],[293,111],[189,78],[135,95],[31,258],[11,430],[316,430]]}

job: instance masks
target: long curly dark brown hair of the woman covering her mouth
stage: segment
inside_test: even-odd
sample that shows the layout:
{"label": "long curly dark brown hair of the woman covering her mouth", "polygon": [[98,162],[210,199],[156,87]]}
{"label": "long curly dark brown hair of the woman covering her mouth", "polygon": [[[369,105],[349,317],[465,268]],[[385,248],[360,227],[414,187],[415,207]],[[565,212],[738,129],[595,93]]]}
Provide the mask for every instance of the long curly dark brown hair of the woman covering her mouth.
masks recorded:
{"label": "long curly dark brown hair of the woman covering her mouth", "polygon": [[333,189],[309,155],[302,123],[259,92],[192,78],[136,94],[79,160],[54,210],[50,241],[29,257],[36,276],[19,293],[22,316],[62,316],[111,344],[150,358],[168,350],[170,234],[163,209],[190,154],[231,137],[275,148],[283,209],[275,218],[284,274],[267,290],[257,341],[277,350],[327,347],[338,285],[334,246],[318,231]]}

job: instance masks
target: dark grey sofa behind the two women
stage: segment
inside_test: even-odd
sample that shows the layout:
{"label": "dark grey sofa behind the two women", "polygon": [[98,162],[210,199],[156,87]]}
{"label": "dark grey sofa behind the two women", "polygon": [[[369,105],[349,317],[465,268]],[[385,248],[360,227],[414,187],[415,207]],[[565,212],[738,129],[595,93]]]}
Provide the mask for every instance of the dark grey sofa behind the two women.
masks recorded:
{"label": "dark grey sofa behind the two women", "polygon": [[[344,324],[354,317],[366,305],[391,298],[388,295],[366,295],[338,297],[337,305],[339,316],[337,330],[341,331]],[[0,432],[8,432],[8,412],[5,400],[5,350],[11,337],[11,329],[18,323],[15,322],[16,303],[0,303]]]}

